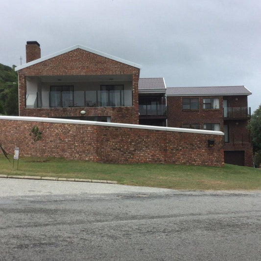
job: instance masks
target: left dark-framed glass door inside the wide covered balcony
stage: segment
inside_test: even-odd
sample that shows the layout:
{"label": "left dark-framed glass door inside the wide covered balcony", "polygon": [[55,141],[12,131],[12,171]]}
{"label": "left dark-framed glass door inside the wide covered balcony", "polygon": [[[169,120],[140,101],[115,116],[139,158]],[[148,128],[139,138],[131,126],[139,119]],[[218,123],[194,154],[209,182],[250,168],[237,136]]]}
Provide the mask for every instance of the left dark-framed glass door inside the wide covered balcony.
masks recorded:
{"label": "left dark-framed glass door inside the wide covered balcony", "polygon": [[73,107],[73,86],[51,86],[50,107]]}

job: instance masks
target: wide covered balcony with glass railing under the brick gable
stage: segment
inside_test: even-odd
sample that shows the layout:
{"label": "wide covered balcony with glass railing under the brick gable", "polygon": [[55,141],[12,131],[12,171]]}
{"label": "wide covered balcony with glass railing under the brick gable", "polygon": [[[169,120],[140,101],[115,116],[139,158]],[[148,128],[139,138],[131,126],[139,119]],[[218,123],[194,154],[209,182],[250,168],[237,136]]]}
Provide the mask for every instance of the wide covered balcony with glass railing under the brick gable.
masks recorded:
{"label": "wide covered balcony with glass railing under the brick gable", "polygon": [[26,108],[132,106],[132,75],[26,77]]}

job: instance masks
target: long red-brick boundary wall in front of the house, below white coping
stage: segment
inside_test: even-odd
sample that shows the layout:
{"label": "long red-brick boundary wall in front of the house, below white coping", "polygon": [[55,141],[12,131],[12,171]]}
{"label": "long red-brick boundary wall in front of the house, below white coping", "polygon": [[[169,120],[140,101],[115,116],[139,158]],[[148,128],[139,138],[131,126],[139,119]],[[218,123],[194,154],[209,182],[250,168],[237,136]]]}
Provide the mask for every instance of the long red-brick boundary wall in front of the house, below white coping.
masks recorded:
{"label": "long red-brick boundary wall in front of the house, below white coping", "polygon": [[[35,144],[29,133],[33,126],[43,132],[39,155],[107,163],[161,163],[223,166],[223,136],[173,132],[109,124],[87,125],[0,119],[0,141],[12,154],[33,156]],[[208,147],[208,140],[215,140]]]}

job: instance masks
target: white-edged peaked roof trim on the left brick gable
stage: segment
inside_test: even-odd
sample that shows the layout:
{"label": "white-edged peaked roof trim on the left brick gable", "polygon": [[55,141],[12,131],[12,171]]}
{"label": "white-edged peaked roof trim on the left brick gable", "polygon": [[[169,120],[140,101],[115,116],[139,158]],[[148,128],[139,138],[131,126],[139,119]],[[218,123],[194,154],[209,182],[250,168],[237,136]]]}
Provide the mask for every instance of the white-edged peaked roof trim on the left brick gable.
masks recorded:
{"label": "white-edged peaked roof trim on the left brick gable", "polygon": [[92,52],[92,53],[95,53],[97,55],[100,55],[100,56],[103,56],[103,57],[106,57],[106,58],[109,58],[109,59],[112,59],[112,60],[115,60],[117,62],[120,62],[120,63],[123,63],[123,64],[126,64],[126,65],[129,65],[129,66],[133,66],[135,68],[139,68],[141,69],[142,66],[139,65],[139,64],[135,64],[135,63],[132,63],[132,62],[129,62],[127,60],[124,60],[124,59],[121,59],[121,58],[118,58],[116,56],[113,56],[113,55],[110,55],[110,54],[107,54],[105,52],[101,52],[101,51],[98,51],[98,50],[95,50],[95,49],[92,49],[92,48],[89,48],[89,47],[85,47],[85,46],[81,46],[81,45],[75,45],[75,46],[71,46],[71,47],[68,47],[66,49],[63,49],[63,50],[60,50],[60,51],[57,51],[57,52],[54,52],[52,54],[49,54],[47,56],[44,56],[44,57],[41,57],[39,59],[36,59],[34,61],[31,61],[29,63],[26,63],[26,64],[23,64],[23,65],[20,65],[20,66],[17,66],[15,68],[15,71],[19,71],[21,69],[24,69],[28,66],[31,66],[31,65],[34,65],[34,64],[37,64],[37,63],[40,63],[40,62],[43,62],[43,61],[46,61],[50,58],[53,58],[55,56],[58,56],[58,55],[61,55],[61,54],[64,54],[66,52],[69,52],[69,51],[72,51],[72,50],[75,50],[75,49],[82,49],[82,50],[85,50],[85,51],[88,51],[88,52]]}

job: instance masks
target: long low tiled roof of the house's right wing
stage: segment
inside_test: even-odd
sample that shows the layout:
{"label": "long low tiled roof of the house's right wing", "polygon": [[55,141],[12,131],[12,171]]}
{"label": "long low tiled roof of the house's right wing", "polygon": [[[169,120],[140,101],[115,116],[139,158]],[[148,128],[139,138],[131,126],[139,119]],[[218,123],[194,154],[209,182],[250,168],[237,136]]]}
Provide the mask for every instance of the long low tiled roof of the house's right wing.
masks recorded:
{"label": "long low tiled roof of the house's right wing", "polygon": [[251,95],[245,86],[168,87],[167,96]]}

